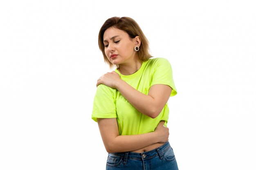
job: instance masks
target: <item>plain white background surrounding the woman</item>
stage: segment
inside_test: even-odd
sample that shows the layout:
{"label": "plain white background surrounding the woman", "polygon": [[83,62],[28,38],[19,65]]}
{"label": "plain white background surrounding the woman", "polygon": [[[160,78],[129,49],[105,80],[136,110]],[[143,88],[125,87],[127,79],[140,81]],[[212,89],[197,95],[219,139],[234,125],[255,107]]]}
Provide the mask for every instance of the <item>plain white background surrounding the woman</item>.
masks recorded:
{"label": "plain white background surrounding the woman", "polygon": [[252,2],[1,1],[0,169],[106,168],[91,119],[96,81],[110,71],[97,36],[106,19],[128,16],[172,65],[169,141],[180,170],[255,170]]}

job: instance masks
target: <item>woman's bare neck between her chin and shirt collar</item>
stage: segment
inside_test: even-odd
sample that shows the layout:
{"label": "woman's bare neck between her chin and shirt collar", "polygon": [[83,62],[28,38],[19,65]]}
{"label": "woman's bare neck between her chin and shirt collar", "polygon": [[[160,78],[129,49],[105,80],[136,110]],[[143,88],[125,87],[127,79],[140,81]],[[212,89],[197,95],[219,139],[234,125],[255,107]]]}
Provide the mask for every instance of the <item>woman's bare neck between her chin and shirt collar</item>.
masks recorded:
{"label": "woman's bare neck between her chin and shirt collar", "polygon": [[118,71],[122,75],[131,75],[136,71],[138,71],[140,67],[141,67],[141,63],[139,61],[135,61],[134,63],[131,63],[131,64],[125,64],[125,65],[120,64]]}

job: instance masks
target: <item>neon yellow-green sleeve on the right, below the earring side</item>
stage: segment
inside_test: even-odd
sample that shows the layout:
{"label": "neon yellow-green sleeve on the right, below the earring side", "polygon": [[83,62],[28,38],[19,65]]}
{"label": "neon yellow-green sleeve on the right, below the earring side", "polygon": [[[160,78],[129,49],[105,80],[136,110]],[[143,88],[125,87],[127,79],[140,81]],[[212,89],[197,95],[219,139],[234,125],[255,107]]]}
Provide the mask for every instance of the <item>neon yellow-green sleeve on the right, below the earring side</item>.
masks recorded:
{"label": "neon yellow-green sleeve on the right, below the earring side", "polygon": [[177,90],[173,81],[173,71],[170,62],[165,58],[156,58],[153,69],[154,74],[151,86],[154,84],[166,84],[172,88],[170,96],[175,96]]}

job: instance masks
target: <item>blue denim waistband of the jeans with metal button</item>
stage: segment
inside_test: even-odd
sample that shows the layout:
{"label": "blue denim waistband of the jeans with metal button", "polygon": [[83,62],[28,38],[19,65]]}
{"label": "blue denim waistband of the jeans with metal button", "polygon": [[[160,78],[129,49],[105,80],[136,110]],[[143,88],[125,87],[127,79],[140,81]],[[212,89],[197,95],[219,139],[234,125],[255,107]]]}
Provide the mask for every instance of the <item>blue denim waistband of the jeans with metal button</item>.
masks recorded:
{"label": "blue denim waistband of the jeans with metal button", "polygon": [[153,150],[142,152],[142,153],[135,153],[135,152],[117,152],[117,153],[109,153],[118,157],[122,157],[124,162],[127,159],[137,159],[137,160],[146,160],[151,159],[153,157],[159,156],[160,159],[163,157],[163,153],[166,152],[170,148],[169,142],[166,142],[164,145],[160,146],[159,148],[155,148]]}

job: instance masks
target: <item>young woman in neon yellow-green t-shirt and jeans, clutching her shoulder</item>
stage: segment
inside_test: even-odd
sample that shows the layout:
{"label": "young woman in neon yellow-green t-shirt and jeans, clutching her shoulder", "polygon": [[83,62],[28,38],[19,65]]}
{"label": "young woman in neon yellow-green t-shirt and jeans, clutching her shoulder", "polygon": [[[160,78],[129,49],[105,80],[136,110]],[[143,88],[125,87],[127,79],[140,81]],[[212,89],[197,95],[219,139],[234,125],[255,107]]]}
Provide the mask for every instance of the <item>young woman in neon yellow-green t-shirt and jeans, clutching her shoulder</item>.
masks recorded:
{"label": "young woman in neon yellow-green t-shirt and jeans, clutching her shoulder", "polygon": [[106,63],[117,66],[97,81],[92,119],[107,150],[107,170],[177,170],[166,127],[167,101],[177,94],[168,60],[148,53],[135,20],[113,17],[99,31]]}

